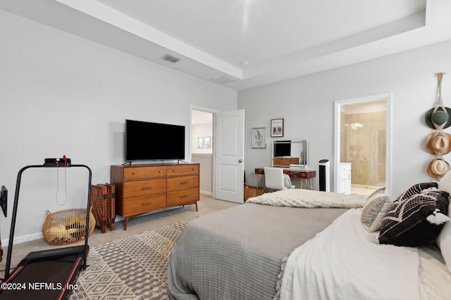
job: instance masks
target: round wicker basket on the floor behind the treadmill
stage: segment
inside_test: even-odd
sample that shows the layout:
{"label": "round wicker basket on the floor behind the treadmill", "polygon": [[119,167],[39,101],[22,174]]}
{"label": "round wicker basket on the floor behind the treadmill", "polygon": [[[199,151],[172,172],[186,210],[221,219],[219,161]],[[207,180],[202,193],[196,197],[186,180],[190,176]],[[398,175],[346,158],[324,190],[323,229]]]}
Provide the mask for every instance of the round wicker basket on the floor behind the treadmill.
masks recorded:
{"label": "round wicker basket on the floor behind the treadmill", "polygon": [[[88,237],[92,235],[96,220],[89,211]],[[86,209],[66,209],[51,213],[47,211],[47,219],[42,226],[42,233],[49,244],[64,245],[79,242],[86,235]]]}

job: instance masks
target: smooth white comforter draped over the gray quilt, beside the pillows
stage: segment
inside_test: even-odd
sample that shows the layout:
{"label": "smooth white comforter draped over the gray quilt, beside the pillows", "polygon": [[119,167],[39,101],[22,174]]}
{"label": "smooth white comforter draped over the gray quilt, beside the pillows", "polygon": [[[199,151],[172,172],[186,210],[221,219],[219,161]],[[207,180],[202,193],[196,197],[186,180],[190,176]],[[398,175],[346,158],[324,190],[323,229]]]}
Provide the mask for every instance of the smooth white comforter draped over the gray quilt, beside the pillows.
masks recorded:
{"label": "smooth white comforter draped over the gray quilt, beside the pillows", "polygon": [[416,248],[378,244],[350,209],[295,249],[280,299],[427,299]]}

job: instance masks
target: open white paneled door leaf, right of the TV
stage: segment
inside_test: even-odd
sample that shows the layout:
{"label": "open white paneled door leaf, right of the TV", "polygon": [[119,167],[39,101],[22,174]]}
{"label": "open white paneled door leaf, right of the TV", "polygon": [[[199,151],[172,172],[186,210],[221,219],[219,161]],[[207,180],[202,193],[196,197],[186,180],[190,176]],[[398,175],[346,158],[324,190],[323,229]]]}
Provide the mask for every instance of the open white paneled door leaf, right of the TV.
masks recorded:
{"label": "open white paneled door leaf, right of the TV", "polygon": [[214,136],[214,197],[243,203],[245,111],[217,113]]}

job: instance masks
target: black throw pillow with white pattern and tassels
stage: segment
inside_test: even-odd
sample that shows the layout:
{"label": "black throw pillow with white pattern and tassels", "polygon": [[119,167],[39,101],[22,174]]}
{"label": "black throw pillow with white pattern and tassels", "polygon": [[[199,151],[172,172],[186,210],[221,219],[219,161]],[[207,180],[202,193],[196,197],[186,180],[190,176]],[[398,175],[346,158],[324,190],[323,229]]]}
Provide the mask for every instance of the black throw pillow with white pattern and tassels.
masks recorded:
{"label": "black throw pillow with white pattern and tassels", "polygon": [[446,191],[437,188],[402,197],[383,218],[379,243],[416,247],[433,240],[449,220],[448,197]]}

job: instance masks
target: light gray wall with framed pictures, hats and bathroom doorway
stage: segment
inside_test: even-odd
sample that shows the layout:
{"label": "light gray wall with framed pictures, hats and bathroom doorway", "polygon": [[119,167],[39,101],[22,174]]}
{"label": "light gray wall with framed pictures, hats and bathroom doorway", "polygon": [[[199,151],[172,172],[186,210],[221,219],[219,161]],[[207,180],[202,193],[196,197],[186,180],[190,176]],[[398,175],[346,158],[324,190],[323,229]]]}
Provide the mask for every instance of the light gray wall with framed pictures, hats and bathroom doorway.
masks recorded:
{"label": "light gray wall with framed pictures, hats and bathroom doorway", "polygon": [[[433,158],[425,150],[432,132],[424,124],[424,114],[437,97],[436,72],[447,72],[442,84],[443,101],[451,106],[451,41],[339,67],[269,84],[238,93],[238,108],[246,110],[245,132],[266,126],[271,119],[285,119],[284,139],[309,141],[309,164],[318,171],[320,159],[330,159],[334,174],[334,101],[393,93],[393,174],[390,178],[395,197],[414,183],[432,181],[426,166]],[[451,129],[445,129],[450,132]],[[266,149],[252,149],[245,140],[245,169],[249,184],[253,170],[271,164],[271,138]],[[278,138],[281,139],[281,138]],[[445,155],[450,162],[450,155]],[[333,188],[333,178],[331,178]],[[318,184],[316,184],[318,187]]]}

